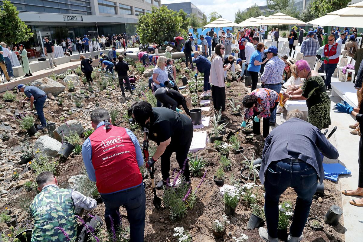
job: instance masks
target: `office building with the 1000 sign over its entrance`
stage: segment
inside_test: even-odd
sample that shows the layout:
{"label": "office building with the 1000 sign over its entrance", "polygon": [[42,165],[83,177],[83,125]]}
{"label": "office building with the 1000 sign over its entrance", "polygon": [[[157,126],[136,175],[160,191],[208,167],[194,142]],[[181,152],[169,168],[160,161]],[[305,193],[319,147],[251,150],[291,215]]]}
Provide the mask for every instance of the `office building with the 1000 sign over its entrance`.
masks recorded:
{"label": "office building with the 1000 sign over its entrance", "polygon": [[99,36],[120,33],[130,36],[136,32],[138,16],[150,13],[151,6],[161,5],[161,0],[10,1],[33,32],[29,42],[24,43],[31,46],[41,46],[44,36],[57,43],[67,37],[74,42],[77,36],[83,37],[88,31],[98,31]]}

